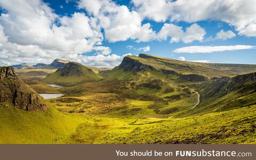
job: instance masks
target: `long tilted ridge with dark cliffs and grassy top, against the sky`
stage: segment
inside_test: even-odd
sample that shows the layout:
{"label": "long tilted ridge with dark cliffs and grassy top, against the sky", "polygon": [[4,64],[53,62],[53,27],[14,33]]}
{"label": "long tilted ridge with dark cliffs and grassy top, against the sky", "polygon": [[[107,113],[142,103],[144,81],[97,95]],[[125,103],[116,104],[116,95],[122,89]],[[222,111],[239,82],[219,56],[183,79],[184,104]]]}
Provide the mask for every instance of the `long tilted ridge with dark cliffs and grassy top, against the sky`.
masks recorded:
{"label": "long tilted ridge with dark cliffs and grassy top, against the sky", "polygon": [[[119,70],[124,70],[123,74],[137,73],[145,68],[163,74],[173,75],[191,75],[198,76],[221,77],[234,76],[239,74],[252,73],[256,71],[256,65],[240,65],[240,64],[221,64],[221,63],[197,63],[188,61],[179,61],[154,55],[140,54],[139,57],[129,55],[124,58],[121,65],[111,71],[115,75]],[[116,74],[118,77],[120,73]],[[121,75],[123,77],[123,75]]]}

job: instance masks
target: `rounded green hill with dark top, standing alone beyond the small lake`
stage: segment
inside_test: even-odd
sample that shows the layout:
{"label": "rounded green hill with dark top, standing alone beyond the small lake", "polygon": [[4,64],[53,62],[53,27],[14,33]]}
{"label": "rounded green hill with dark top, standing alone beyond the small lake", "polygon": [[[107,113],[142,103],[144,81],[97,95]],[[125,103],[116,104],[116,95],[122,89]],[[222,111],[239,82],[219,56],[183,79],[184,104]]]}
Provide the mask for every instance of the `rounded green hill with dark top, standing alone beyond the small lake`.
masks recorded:
{"label": "rounded green hill with dark top, standing alone beyond the small lake", "polygon": [[55,71],[55,73],[48,75],[43,81],[70,86],[82,82],[95,82],[99,79],[101,79],[101,77],[95,74],[92,69],[76,62],[68,62],[64,68],[60,68]]}

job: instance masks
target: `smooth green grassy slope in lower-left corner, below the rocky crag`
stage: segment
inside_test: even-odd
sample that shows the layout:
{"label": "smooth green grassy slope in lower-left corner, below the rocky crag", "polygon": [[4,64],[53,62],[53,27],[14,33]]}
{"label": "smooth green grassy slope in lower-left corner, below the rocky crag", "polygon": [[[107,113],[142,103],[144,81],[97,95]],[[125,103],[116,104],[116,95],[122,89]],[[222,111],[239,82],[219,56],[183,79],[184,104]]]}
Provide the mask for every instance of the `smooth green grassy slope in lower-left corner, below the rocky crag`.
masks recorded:
{"label": "smooth green grassy slope in lower-left corner, below the rocky crag", "polygon": [[82,117],[65,115],[49,108],[46,112],[23,111],[0,105],[0,143],[63,143]]}

